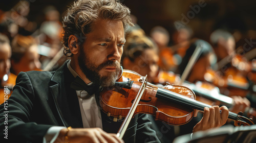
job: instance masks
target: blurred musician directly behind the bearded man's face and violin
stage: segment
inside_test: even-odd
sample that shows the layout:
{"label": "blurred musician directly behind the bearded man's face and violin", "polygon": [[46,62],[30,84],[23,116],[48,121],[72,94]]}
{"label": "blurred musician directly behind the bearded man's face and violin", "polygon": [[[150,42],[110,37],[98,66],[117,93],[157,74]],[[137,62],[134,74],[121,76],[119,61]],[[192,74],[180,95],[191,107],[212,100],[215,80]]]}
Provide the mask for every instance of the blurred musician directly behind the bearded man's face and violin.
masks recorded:
{"label": "blurred musician directly behind the bearded man's face and violin", "polygon": [[[136,71],[141,76],[148,76],[148,82],[155,82],[159,74],[158,49],[149,38],[147,38],[141,29],[133,30],[127,34],[124,52],[122,56],[122,66],[124,69]],[[166,79],[167,81],[167,79]],[[153,116],[149,116],[152,121],[152,127],[156,130],[160,141],[171,142],[176,136],[193,132],[193,127],[200,122],[202,116],[194,122],[182,125],[186,132],[174,131],[174,126],[167,125],[161,121],[155,121]],[[162,132],[162,130],[165,130]],[[195,129],[195,128],[194,128]]]}

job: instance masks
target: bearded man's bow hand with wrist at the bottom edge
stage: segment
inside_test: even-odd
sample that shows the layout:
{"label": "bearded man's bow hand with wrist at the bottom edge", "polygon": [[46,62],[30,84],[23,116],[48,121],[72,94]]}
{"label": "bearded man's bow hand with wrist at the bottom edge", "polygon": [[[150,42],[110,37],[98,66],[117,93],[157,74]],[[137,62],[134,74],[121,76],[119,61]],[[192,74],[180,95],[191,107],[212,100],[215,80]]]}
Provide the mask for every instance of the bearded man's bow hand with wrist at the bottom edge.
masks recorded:
{"label": "bearded man's bow hand with wrist at the bottom edge", "polygon": [[[60,133],[54,143],[65,142],[65,135],[68,129],[60,130]],[[124,142],[114,133],[106,133],[100,128],[72,128],[67,134],[69,142]]]}

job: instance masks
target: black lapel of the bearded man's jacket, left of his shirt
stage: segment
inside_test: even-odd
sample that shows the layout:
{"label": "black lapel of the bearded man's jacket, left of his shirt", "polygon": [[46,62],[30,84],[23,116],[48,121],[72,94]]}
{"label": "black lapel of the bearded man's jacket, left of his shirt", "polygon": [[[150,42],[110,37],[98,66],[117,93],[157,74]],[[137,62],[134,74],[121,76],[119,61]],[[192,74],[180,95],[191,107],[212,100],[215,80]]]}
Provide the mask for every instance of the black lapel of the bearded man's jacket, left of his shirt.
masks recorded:
{"label": "black lapel of the bearded man's jacket, left of his shirt", "polygon": [[67,62],[57,69],[50,81],[50,91],[63,126],[82,128],[82,117],[76,91],[70,88],[74,80]]}

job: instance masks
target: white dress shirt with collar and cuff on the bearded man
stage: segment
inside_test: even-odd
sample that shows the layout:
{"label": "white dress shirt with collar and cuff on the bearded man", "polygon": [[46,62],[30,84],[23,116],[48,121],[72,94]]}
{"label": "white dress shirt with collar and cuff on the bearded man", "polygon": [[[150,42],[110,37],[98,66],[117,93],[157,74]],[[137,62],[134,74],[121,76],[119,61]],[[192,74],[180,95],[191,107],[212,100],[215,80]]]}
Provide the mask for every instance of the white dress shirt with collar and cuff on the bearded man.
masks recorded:
{"label": "white dress shirt with collar and cuff on the bearded man", "polygon": [[[78,76],[75,70],[70,66],[70,61],[68,62],[68,69],[74,77]],[[92,82],[88,85],[90,84],[92,84]],[[90,96],[88,92],[84,90],[76,90],[76,94],[79,101],[83,128],[98,127],[102,129],[100,108],[96,103],[95,94]],[[49,128],[46,135],[43,138],[43,143],[54,142],[60,130],[63,128],[66,127],[54,126]]]}

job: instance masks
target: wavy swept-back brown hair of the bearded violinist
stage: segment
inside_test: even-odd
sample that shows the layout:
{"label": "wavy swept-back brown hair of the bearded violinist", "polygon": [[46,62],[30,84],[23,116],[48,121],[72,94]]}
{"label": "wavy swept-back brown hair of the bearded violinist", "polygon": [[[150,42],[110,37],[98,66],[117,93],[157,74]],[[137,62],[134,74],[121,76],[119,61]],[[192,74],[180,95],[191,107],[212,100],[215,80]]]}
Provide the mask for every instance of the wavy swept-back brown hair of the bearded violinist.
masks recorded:
{"label": "wavy swept-back brown hair of the bearded violinist", "polygon": [[70,35],[78,37],[79,42],[86,40],[86,34],[91,32],[91,25],[97,19],[121,20],[124,29],[133,26],[130,9],[115,0],[78,0],[74,2],[63,17],[64,55],[72,57],[68,45]]}

